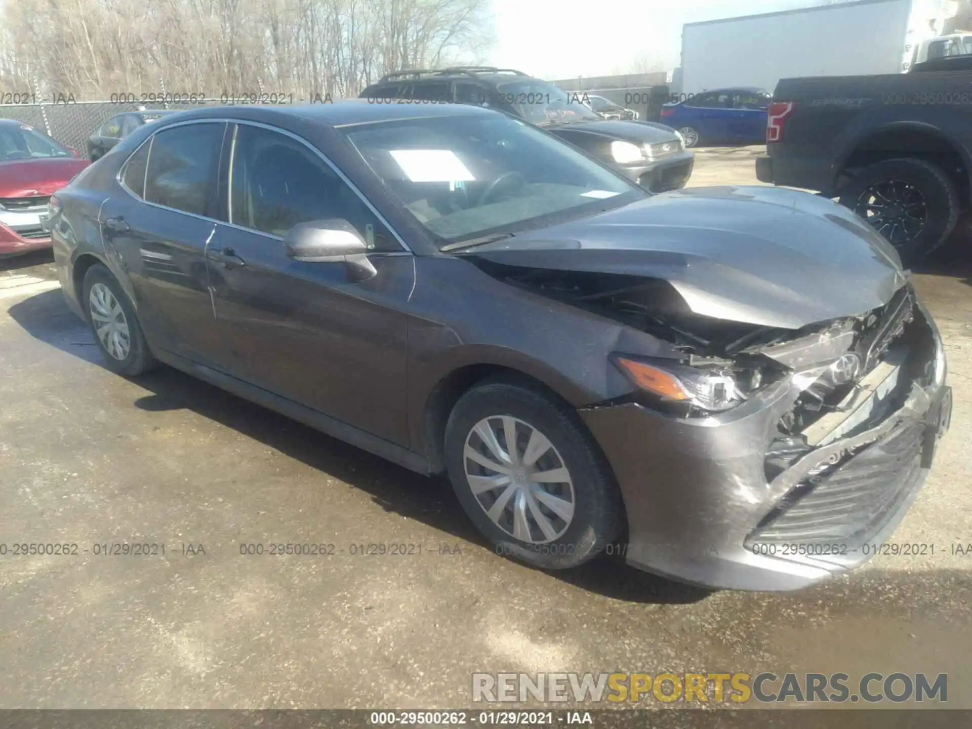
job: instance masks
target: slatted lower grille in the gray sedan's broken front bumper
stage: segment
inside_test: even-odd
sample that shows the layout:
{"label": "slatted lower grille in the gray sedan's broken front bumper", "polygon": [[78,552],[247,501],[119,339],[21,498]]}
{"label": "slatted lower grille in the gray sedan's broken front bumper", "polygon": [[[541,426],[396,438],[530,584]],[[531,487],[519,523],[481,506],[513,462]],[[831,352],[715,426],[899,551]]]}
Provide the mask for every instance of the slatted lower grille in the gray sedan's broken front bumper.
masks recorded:
{"label": "slatted lower grille in the gray sedan's broken front bumper", "polygon": [[921,476],[925,425],[903,421],[884,438],[796,486],[746,539],[754,543],[865,541]]}

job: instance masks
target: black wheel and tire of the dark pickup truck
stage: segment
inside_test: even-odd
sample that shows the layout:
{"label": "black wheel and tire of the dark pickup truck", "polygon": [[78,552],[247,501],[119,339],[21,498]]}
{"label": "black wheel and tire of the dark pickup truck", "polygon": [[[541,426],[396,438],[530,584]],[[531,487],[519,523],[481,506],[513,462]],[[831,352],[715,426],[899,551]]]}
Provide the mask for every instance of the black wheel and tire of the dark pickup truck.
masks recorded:
{"label": "black wheel and tire of the dark pickup truck", "polygon": [[[881,196],[879,196],[881,195]],[[880,210],[869,202],[885,198],[900,198],[901,204],[891,206],[901,217],[878,217],[873,223],[892,245],[905,265],[910,265],[938,248],[948,238],[958,221],[960,205],[955,183],[934,164],[923,159],[885,159],[862,170],[851,179],[840,202],[857,215],[868,220],[868,211]],[[914,217],[920,213],[921,223]],[[871,220],[868,220],[871,223]],[[899,224],[898,221],[903,223]]]}

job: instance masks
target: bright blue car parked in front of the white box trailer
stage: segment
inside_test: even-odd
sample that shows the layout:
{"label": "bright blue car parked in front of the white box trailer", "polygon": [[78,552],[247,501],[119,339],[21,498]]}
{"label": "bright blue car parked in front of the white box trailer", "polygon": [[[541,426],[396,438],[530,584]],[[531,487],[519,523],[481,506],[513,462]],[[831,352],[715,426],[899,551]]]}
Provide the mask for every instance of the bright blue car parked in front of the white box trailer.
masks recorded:
{"label": "bright blue car parked in front of the white box trailer", "polygon": [[661,121],[678,130],[685,147],[766,141],[766,110],[773,95],[762,88],[716,88],[665,104]]}

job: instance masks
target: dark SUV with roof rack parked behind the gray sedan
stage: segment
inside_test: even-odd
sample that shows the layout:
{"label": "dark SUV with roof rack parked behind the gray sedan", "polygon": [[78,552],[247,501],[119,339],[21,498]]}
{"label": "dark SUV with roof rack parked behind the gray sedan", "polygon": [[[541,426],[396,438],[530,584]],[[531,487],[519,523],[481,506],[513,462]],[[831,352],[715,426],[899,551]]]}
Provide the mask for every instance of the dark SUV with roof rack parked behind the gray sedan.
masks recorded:
{"label": "dark SUV with roof rack parked behind the gray sedan", "polygon": [[695,156],[675,129],[598,116],[583,91],[565,91],[522,71],[493,66],[398,71],[362,91],[374,103],[474,104],[543,127],[652,192],[679,190]]}

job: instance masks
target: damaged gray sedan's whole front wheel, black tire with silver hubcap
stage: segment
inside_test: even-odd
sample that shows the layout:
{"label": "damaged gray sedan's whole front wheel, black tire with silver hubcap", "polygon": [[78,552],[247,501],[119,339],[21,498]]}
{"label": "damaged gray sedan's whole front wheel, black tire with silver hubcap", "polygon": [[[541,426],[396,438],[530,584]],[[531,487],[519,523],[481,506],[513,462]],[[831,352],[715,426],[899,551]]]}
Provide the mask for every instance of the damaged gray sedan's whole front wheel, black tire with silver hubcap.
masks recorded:
{"label": "damaged gray sedan's whole front wheel, black tire with silver hubcap", "polygon": [[460,503],[498,553],[546,570],[600,553],[623,525],[608,463],[562,400],[502,380],[464,395],[445,433]]}

